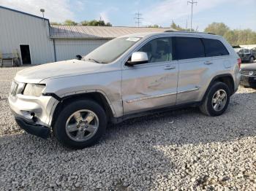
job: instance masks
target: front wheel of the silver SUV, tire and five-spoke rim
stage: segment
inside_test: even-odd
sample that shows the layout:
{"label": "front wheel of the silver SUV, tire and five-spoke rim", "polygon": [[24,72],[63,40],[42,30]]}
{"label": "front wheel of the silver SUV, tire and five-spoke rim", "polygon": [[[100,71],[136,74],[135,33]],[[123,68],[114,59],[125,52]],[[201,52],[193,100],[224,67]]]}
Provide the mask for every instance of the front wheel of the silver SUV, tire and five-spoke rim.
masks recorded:
{"label": "front wheel of the silver SUV, tire and five-spoke rim", "polygon": [[107,117],[102,106],[91,100],[74,101],[59,114],[53,132],[66,147],[83,149],[105,133]]}

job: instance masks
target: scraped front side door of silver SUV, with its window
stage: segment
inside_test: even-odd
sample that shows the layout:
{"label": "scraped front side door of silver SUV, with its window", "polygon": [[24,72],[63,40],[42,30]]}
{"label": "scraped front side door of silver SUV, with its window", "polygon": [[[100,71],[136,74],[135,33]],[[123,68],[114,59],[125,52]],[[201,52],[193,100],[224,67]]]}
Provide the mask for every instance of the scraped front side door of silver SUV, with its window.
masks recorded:
{"label": "scraped front side door of silver SUV, with its window", "polygon": [[152,39],[138,52],[147,53],[148,63],[124,66],[122,69],[124,114],[175,105],[178,63],[172,61],[172,39]]}

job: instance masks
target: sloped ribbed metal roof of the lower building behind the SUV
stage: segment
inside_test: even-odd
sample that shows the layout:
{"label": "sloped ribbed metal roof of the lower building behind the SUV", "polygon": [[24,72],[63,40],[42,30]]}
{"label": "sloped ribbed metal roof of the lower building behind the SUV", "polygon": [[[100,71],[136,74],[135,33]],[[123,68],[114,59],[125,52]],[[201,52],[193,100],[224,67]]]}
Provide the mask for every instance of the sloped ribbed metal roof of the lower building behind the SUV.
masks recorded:
{"label": "sloped ribbed metal roof of the lower building behind the SUV", "polygon": [[56,26],[50,28],[53,39],[113,39],[127,34],[164,32],[170,28],[148,28],[127,26]]}

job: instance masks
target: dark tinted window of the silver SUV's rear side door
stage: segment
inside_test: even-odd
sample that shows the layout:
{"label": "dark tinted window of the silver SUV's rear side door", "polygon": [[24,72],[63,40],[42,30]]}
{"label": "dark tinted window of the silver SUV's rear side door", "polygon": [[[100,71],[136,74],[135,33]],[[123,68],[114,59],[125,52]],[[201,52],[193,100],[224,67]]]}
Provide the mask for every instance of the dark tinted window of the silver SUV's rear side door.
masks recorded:
{"label": "dark tinted window of the silver SUV's rear side door", "polygon": [[175,37],[174,42],[177,60],[205,57],[203,42],[200,38]]}

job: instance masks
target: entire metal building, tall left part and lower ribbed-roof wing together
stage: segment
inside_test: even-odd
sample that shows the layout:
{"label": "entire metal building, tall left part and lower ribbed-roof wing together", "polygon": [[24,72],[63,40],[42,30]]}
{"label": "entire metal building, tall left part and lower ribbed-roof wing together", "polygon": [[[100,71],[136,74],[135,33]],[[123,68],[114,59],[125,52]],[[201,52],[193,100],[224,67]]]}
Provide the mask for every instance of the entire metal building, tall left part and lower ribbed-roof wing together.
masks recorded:
{"label": "entire metal building, tall left part and lower ribbed-roof wing together", "polygon": [[[170,28],[169,28],[170,29]],[[86,55],[118,36],[167,28],[50,26],[43,17],[0,6],[0,63],[18,57],[23,64],[64,61]]]}

